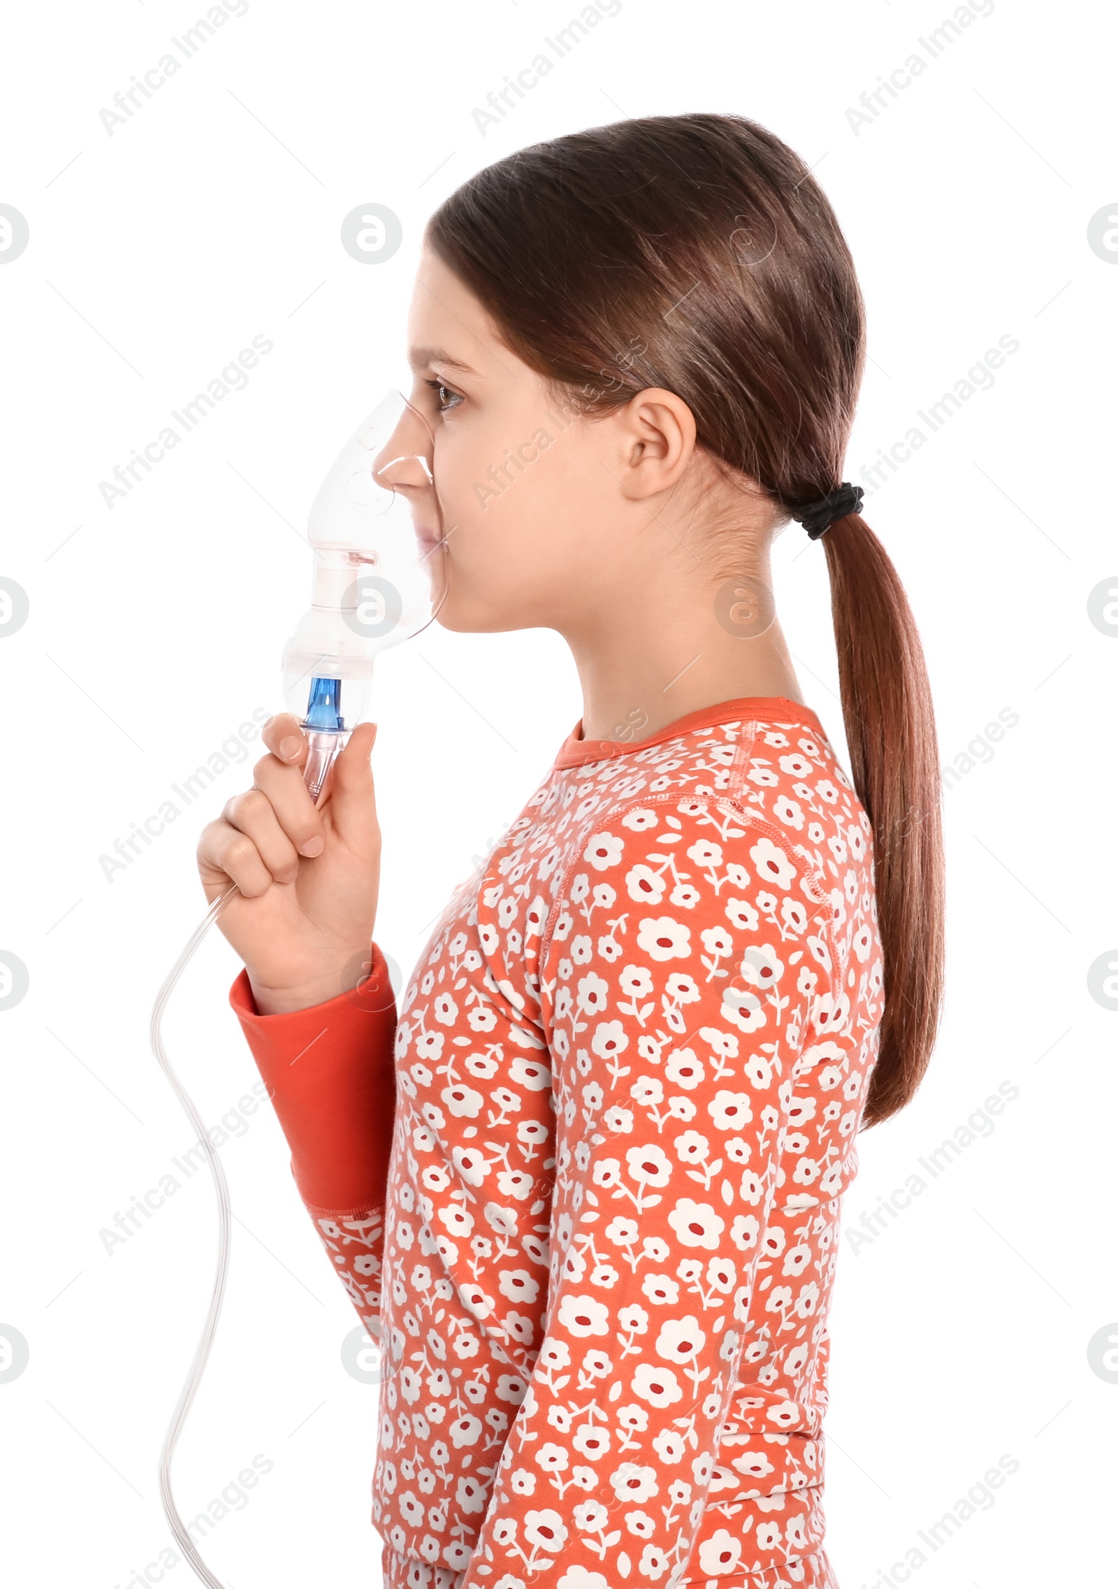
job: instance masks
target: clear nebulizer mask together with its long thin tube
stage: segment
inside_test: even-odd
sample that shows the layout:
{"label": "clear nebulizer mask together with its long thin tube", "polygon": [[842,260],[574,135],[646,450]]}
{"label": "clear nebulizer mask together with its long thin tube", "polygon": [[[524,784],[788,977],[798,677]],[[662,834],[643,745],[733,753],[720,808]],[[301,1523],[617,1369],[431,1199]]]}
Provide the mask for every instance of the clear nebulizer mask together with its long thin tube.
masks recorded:
{"label": "clear nebulizer mask together with its long thin tube", "polygon": [[[410,489],[411,488],[411,489]],[[413,516],[413,502],[416,516]],[[416,518],[427,515],[426,524]],[[310,510],[306,539],[314,553],[311,605],[283,650],[283,691],[308,739],[303,779],[316,804],[329,799],[330,767],[353,729],[372,715],[373,666],[381,651],[424,629],[448,590],[445,532],[434,491],[434,439],[424,416],[400,389],[389,389],[327,474]],[[191,1371],[172,1416],[159,1460],[167,1521],[186,1560],[208,1589],[226,1589],[202,1560],[175,1506],[170,1463],[199,1389],[218,1327],[229,1270],[229,1185],[210,1133],[172,1071],[160,1023],[167,1001],[222,906],[227,888],[164,982],[151,1012],[151,1047],[175,1088],[218,1192],[218,1271],[210,1313]]]}

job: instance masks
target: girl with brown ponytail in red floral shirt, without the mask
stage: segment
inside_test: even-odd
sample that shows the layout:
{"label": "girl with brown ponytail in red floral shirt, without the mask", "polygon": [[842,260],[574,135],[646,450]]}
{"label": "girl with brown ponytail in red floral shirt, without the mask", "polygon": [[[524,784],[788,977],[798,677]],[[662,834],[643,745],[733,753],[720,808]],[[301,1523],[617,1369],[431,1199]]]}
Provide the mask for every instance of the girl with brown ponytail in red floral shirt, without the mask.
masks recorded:
{"label": "girl with brown ponytail in red floral shirt, without the mask", "polygon": [[[827,1306],[856,1133],[942,988],[921,645],[842,459],[851,257],[737,116],[522,149],[435,213],[389,456],[448,629],[546,626],[583,717],[399,1015],[357,728],[292,717],[200,844],[299,1193],[381,1340],[391,1589],[835,1589]],[[775,531],[823,539],[853,777],[802,698]],[[364,972],[368,972],[364,976]]]}

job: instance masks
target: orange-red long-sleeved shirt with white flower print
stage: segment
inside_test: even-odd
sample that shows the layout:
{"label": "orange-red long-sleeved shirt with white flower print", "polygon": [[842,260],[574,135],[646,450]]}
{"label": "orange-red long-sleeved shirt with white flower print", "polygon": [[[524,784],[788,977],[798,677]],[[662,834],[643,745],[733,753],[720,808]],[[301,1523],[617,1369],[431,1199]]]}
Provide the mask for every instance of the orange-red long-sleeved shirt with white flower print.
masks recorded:
{"label": "orange-red long-sleeved shirt with white flower print", "polygon": [[376,947],[314,1009],[230,993],[381,1338],[373,1521],[402,1584],[824,1589],[826,1319],[883,1006],[870,823],[783,698],[580,736],[399,1012]]}

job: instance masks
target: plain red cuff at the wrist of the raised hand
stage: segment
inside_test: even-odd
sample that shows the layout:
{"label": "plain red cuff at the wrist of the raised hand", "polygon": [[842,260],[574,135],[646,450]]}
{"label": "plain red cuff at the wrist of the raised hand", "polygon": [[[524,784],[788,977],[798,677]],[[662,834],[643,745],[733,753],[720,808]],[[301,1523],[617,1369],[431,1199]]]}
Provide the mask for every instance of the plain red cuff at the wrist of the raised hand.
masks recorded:
{"label": "plain red cuff at the wrist of the raised hand", "polygon": [[260,1015],[248,971],[229,990],[291,1147],[303,1203],[330,1212],[381,1208],[395,1115],[395,996],[384,955],[326,1004]]}

